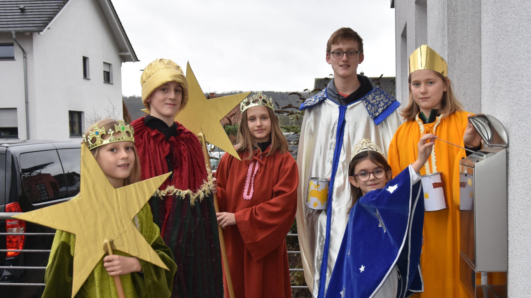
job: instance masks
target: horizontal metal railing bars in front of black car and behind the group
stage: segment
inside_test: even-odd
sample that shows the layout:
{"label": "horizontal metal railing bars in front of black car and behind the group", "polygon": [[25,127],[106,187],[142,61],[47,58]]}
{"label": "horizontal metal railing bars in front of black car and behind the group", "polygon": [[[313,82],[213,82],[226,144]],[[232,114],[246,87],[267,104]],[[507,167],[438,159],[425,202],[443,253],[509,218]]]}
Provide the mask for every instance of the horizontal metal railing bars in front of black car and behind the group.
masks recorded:
{"label": "horizontal metal railing bars in front of black car and behind the group", "polygon": [[[0,220],[7,220],[13,215],[22,213],[2,213],[0,212]],[[0,236],[52,236],[55,233],[0,233]],[[287,234],[286,237],[298,237],[298,234]],[[50,252],[50,249],[0,249],[0,252]],[[288,255],[300,255],[301,251],[288,251]],[[30,269],[30,270],[46,270],[46,267],[42,266],[0,266],[0,269]],[[302,272],[301,268],[289,268],[289,272]],[[44,286],[45,284],[39,283],[0,283],[0,286]],[[308,288],[308,286],[294,286],[292,288]]]}

